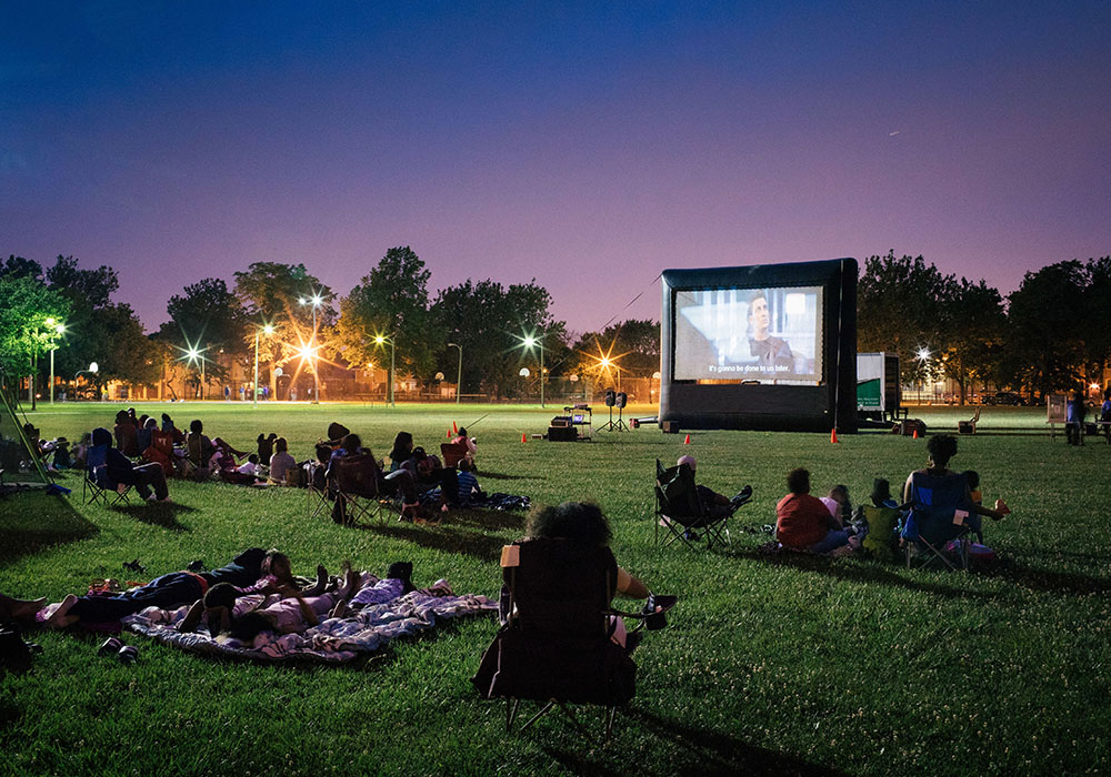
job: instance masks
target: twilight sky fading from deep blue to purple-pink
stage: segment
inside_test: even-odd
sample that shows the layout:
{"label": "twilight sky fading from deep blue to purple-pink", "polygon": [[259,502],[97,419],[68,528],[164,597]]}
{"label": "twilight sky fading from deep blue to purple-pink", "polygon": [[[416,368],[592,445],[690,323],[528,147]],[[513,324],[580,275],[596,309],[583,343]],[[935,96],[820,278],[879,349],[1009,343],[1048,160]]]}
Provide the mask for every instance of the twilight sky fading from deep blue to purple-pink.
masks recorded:
{"label": "twilight sky fading from deep blue to purple-pink", "polygon": [[9,2],[0,253],[110,264],[152,329],[406,244],[577,331],[665,268],[892,248],[1005,294],[1111,253],[1109,40],[1105,0]]}

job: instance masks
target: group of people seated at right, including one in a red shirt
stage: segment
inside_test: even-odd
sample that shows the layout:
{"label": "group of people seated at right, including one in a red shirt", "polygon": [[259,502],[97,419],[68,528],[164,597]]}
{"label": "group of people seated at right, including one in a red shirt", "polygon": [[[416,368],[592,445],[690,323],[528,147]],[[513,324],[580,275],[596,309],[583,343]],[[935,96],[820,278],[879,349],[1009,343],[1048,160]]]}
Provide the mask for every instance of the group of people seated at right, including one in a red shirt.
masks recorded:
{"label": "group of people seated at right, including one in a red shirt", "polygon": [[[1007,503],[997,500],[993,509],[984,507],[979,487],[979,474],[971,470],[959,473],[949,468],[950,461],[957,455],[955,437],[948,434],[934,435],[927,442],[927,451],[929,452],[927,466],[907,477],[902,502],[892,498],[891,486],[885,478],[875,478],[870,496],[872,506],[897,509],[905,517],[919,498],[915,493],[915,475],[962,478],[965,484],[962,504],[968,507],[968,526],[982,543],[981,516],[988,516],[993,521],[1001,519],[1011,512]],[[869,531],[868,523],[862,517],[862,511],[853,509],[847,486],[834,485],[827,496],[818,498],[810,493],[810,472],[799,467],[788,474],[787,487],[789,493],[775,505],[775,539],[780,545],[791,549],[835,555],[852,553],[861,547]],[[895,524],[893,536],[880,538],[880,542],[902,543],[905,541],[904,529],[905,522],[901,521]]]}

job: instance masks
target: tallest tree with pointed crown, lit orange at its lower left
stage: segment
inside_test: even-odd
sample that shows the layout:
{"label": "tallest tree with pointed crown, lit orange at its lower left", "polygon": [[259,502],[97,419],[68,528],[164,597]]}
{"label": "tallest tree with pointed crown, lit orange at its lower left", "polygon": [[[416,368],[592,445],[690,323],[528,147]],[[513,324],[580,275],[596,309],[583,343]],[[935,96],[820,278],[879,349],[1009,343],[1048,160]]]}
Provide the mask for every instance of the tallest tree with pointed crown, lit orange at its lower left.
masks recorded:
{"label": "tallest tree with pointed crown, lit orange at its lower left", "polygon": [[391,339],[398,369],[429,377],[441,345],[428,310],[430,278],[424,262],[408,245],[387,251],[340,301],[337,352],[349,363],[389,363],[389,350],[383,351],[374,339]]}

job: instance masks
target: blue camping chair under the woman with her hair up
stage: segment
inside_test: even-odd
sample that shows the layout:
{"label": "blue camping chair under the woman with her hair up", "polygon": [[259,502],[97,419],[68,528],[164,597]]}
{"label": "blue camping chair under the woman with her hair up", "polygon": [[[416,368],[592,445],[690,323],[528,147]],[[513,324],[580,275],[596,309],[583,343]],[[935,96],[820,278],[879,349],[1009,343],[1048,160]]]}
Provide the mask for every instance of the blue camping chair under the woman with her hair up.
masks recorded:
{"label": "blue camping chair under the woman with her hair up", "polygon": [[961,567],[968,571],[969,534],[973,531],[969,518],[974,515],[968,493],[968,480],[963,474],[915,472],[911,475],[911,508],[902,531],[908,569],[918,549],[922,567],[941,561],[955,571],[957,566],[945,556],[944,547],[957,539],[960,541]]}

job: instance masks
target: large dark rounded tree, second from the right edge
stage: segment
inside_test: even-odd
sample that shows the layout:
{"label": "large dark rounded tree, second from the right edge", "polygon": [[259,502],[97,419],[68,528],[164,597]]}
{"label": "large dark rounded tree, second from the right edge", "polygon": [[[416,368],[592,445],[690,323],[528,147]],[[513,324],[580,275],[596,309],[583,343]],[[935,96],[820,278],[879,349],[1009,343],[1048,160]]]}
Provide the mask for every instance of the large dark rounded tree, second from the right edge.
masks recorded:
{"label": "large dark rounded tree, second from the right edge", "polygon": [[1028,272],[1008,297],[1009,361],[1017,376],[1041,394],[1071,391],[1083,377],[1089,276],[1077,260],[1058,262]]}

